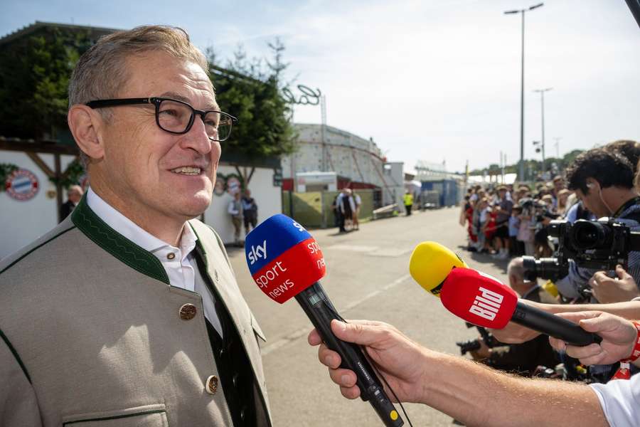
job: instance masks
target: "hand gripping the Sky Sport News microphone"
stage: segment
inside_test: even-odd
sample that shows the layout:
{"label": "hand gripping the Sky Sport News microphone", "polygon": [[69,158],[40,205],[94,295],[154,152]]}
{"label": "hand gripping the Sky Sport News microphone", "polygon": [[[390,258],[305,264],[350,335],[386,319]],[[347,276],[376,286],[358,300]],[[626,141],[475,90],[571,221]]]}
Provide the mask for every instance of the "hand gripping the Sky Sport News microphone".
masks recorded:
{"label": "hand gripping the Sky Sport News microphone", "polygon": [[[429,350],[412,342],[395,327],[383,322],[349,320],[349,323],[344,323],[333,320],[331,330],[338,339],[364,346],[363,349],[400,401],[421,401],[424,384],[423,367]],[[312,346],[320,344],[318,349],[320,363],[329,367],[329,376],[340,386],[342,395],[347,399],[356,399],[360,396],[361,391],[356,385],[356,374],[340,367],[340,355],[322,343],[316,330],[309,333],[308,341]],[[393,394],[389,396],[393,399]]]}

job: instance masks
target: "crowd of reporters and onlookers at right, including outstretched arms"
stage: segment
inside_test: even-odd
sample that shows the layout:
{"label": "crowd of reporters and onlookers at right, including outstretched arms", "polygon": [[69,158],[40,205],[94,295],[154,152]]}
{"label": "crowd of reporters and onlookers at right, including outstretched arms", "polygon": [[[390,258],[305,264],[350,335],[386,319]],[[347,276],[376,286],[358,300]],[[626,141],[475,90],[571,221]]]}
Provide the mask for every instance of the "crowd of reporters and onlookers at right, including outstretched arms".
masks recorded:
{"label": "crowd of reporters and onlookers at right, including outstretched arms", "polygon": [[[462,207],[460,223],[468,231],[469,251],[511,258],[508,285],[523,304],[575,322],[602,342],[579,347],[510,322],[501,330],[480,331],[479,347],[472,350],[478,364],[422,347],[382,322],[334,322],[336,337],[363,345],[390,386],[400,390],[400,401],[427,404],[462,423],[639,426],[640,247],[629,238],[624,262],[614,257],[620,262],[614,270],[594,269],[593,261],[613,255],[619,249],[614,241],[624,239],[622,234],[602,238],[598,253],[587,248],[562,260],[566,269],[545,286],[535,275],[531,278],[520,256],[541,258],[560,251],[547,232],[554,219],[572,224],[607,217],[614,222],[596,227],[609,227],[602,236],[614,233],[614,223],[624,228],[624,236],[640,232],[639,157],[638,142],[612,142],[578,155],[565,176],[551,182],[474,186]],[[315,331],[309,343],[319,345],[319,359],[343,396],[358,397],[355,376],[340,367],[338,354],[321,344]],[[518,378],[514,373],[572,381]]]}

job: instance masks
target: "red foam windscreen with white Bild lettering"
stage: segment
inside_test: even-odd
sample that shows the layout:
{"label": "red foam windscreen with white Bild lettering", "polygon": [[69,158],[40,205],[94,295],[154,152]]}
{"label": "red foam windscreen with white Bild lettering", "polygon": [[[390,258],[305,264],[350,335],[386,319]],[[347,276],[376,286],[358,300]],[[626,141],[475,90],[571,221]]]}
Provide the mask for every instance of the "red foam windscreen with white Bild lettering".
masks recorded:
{"label": "red foam windscreen with white Bild lettering", "polygon": [[518,295],[490,275],[454,268],[444,280],[442,305],[477,326],[502,329],[516,311]]}

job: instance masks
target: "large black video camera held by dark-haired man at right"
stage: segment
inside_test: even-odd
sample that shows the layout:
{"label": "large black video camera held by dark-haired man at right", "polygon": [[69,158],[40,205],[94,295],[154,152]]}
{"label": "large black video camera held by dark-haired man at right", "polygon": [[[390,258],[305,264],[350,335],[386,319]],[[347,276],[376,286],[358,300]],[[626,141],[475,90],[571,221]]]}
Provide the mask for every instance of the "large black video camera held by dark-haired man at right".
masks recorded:
{"label": "large black video camera held by dark-haired man at right", "polygon": [[556,256],[539,260],[523,257],[526,280],[563,278],[569,271],[569,260],[594,270],[615,270],[618,264],[626,269],[629,252],[640,251],[640,233],[613,218],[575,223],[556,220],[551,221],[548,231],[560,243]]}

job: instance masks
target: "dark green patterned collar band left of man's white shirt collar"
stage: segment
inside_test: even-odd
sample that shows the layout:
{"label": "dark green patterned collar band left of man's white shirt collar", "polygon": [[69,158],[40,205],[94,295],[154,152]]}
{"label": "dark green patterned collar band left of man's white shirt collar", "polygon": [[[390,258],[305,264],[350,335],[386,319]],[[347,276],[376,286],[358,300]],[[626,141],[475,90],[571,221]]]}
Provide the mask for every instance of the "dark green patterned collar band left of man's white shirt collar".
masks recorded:
{"label": "dark green patterned collar band left of man's white shirt collar", "polygon": [[169,276],[162,263],[149,251],[145,251],[122,234],[102,221],[87,204],[87,196],[82,196],[73,209],[71,221],[97,246],[140,273],[169,285]]}

